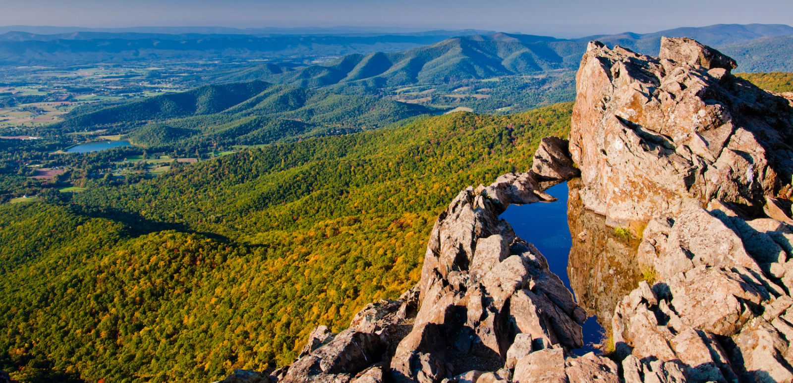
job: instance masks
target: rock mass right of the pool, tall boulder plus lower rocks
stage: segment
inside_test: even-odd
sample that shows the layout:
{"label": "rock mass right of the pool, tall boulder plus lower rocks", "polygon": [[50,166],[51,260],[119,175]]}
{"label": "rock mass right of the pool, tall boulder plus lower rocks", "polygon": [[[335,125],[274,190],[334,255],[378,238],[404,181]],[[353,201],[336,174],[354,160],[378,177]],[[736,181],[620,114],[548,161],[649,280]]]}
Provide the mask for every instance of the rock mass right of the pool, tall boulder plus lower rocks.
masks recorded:
{"label": "rock mass right of the pool, tall boulder plus lower rocks", "polygon": [[592,43],[582,60],[580,200],[638,239],[653,282],[608,326],[626,382],[793,381],[793,108],[734,67],[688,39],[658,59]]}

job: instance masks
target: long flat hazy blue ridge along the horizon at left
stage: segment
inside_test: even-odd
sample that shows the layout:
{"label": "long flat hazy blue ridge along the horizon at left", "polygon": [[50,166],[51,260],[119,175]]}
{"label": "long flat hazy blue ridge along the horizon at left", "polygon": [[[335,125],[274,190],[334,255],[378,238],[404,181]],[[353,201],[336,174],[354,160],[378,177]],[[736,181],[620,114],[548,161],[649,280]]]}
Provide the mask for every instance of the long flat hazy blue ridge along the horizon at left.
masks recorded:
{"label": "long flat hazy blue ridge along the horizon at left", "polygon": [[481,32],[403,34],[243,35],[70,32],[0,35],[0,65],[67,66],[162,60],[294,59],[395,52]]}

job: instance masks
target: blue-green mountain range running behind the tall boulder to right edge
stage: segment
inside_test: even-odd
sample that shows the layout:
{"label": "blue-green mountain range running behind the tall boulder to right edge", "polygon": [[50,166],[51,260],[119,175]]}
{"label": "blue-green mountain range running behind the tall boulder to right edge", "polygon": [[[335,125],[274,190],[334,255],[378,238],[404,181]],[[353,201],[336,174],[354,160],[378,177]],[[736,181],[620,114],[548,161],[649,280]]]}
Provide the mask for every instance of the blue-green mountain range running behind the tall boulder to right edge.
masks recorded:
{"label": "blue-green mountain range running behind the tall boulder to right edge", "polygon": [[[670,29],[657,33],[622,33],[588,36],[577,40],[510,33],[462,36],[404,52],[354,54],[308,67],[273,63],[239,72],[256,72],[261,79],[293,86],[407,86],[448,83],[462,79],[488,79],[508,75],[533,75],[572,70],[589,40],[620,45],[646,55],[657,55],[661,36],[691,36],[735,56],[739,71],[793,71],[793,27],[787,25],[711,25]],[[721,45],[720,45],[721,44]],[[234,79],[230,77],[228,79]]]}

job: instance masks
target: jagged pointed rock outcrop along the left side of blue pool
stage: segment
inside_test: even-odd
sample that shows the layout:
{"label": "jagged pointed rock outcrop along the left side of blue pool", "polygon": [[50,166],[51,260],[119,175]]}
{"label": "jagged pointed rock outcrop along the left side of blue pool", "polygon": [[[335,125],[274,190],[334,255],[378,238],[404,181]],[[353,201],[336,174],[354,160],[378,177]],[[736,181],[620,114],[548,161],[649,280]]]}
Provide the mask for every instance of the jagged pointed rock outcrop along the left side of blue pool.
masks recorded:
{"label": "jagged pointed rock outcrop along the left side of blue pool", "polygon": [[424,257],[421,308],[391,362],[395,381],[439,381],[504,366],[515,335],[532,347],[583,345],[585,312],[539,251],[500,220],[512,201],[548,200],[537,175],[463,190],[439,217]]}

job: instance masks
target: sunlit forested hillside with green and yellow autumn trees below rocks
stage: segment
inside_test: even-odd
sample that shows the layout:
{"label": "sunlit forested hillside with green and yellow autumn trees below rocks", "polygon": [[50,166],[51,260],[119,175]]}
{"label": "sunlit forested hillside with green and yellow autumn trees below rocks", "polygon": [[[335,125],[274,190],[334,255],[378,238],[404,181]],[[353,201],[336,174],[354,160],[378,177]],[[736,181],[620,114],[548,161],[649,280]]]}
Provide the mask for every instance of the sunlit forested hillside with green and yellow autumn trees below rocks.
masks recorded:
{"label": "sunlit forested hillside with green and yellow autumn trees below rocks", "polygon": [[[465,186],[531,167],[571,104],[249,149],[70,204],[0,206],[0,369],[210,381],[290,362],[317,324],[419,278]],[[20,367],[23,367],[20,370]]]}

